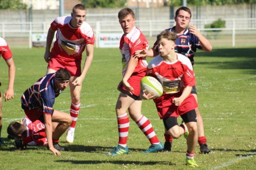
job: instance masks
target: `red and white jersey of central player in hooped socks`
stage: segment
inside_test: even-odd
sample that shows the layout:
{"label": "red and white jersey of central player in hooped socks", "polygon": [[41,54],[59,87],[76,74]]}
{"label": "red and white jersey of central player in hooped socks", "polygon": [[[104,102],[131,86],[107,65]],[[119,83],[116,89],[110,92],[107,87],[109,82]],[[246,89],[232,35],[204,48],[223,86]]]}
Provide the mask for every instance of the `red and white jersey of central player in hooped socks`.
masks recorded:
{"label": "red and white jersey of central player in hooped socks", "polygon": [[[123,35],[120,40],[119,49],[122,54],[122,74],[124,76],[125,71],[127,69],[128,62],[130,57],[137,50],[147,50],[148,49],[148,41],[139,28],[134,27],[130,33]],[[146,71],[148,66],[145,58],[139,58],[137,66],[135,67],[133,73],[141,73]]]}

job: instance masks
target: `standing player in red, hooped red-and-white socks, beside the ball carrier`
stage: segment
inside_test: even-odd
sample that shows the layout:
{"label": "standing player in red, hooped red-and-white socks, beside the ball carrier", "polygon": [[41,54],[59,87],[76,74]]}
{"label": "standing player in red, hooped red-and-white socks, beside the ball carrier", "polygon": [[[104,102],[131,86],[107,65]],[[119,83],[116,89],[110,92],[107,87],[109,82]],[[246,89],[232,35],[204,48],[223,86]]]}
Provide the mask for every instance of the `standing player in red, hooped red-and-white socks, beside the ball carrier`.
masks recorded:
{"label": "standing player in red, hooped red-and-white socks, beside the ball carrier", "polygon": [[127,136],[130,126],[129,115],[144,133],[151,143],[149,149],[143,153],[161,151],[164,146],[158,140],[154,129],[146,116],[141,114],[142,100],[140,95],[140,81],[146,74],[147,61],[144,58],[135,58],[134,53],[139,49],[148,49],[148,41],[139,28],[135,27],[134,13],[130,8],[124,8],[118,13],[119,23],[124,31],[120,40],[122,54],[123,79],[117,89],[120,91],[116,103],[116,115],[118,123],[118,145],[106,155],[120,155],[128,153]]}

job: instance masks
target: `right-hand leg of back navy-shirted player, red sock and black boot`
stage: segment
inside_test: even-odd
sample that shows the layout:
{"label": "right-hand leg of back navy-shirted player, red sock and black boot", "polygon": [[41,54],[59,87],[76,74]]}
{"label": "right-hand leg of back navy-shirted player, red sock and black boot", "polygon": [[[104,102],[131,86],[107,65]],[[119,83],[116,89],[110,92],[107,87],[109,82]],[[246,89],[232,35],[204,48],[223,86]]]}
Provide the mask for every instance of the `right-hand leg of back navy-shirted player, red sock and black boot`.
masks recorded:
{"label": "right-hand leg of back navy-shirted player, red sock and black boot", "polygon": [[[192,94],[197,102],[197,95]],[[203,127],[203,119],[199,112],[198,107],[195,108],[196,118],[197,118],[197,133],[198,133],[198,143],[200,145],[200,151],[201,153],[210,153],[210,149],[207,146],[206,143],[206,137],[204,136],[204,127]]]}

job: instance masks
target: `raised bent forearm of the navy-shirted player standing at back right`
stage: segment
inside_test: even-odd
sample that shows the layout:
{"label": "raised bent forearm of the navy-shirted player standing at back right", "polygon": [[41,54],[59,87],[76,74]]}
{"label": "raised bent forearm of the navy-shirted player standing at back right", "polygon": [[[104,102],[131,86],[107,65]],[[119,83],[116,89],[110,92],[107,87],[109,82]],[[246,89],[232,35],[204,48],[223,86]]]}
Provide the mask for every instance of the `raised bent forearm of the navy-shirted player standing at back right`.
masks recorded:
{"label": "raised bent forearm of the navy-shirted player standing at back right", "polygon": [[194,34],[198,38],[198,40],[200,41],[200,43],[202,45],[203,51],[211,51],[212,50],[210,41],[208,39],[206,39],[204,36],[202,36],[202,34],[198,31],[198,29],[194,25],[189,26],[189,32]]}

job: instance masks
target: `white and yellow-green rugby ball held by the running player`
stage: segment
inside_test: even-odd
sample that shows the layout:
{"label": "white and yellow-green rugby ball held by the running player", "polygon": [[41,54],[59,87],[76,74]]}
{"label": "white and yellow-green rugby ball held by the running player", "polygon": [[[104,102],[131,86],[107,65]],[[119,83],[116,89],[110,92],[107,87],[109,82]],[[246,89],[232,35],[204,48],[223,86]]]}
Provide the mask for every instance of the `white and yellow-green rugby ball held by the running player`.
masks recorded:
{"label": "white and yellow-green rugby ball held by the running player", "polygon": [[156,78],[151,76],[145,76],[141,79],[140,88],[141,91],[147,90],[146,94],[153,91],[156,98],[163,94],[163,86]]}

